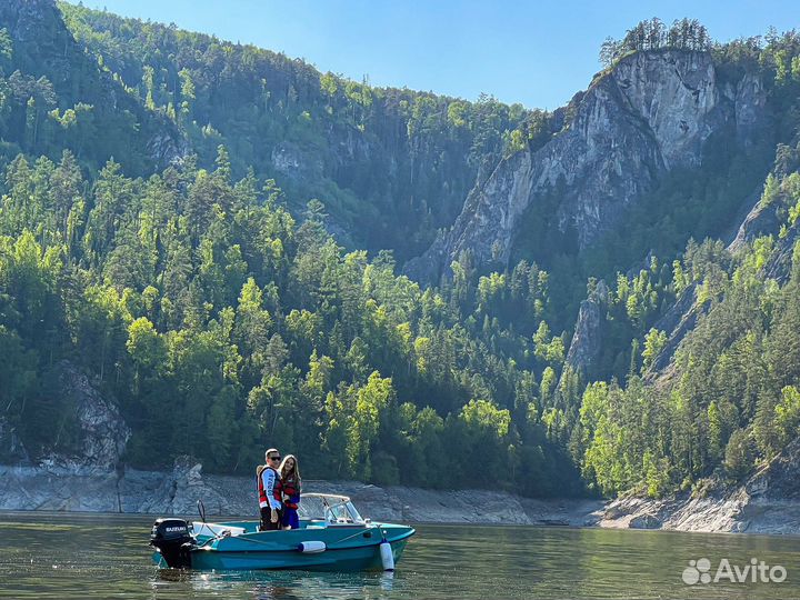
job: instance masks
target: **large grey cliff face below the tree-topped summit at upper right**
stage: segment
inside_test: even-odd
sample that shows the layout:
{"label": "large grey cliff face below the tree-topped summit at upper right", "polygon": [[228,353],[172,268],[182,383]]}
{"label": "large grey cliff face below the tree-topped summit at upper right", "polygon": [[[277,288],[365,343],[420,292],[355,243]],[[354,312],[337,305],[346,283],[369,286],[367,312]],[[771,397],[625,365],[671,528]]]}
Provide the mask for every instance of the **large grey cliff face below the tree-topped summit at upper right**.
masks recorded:
{"label": "large grey cliff face below the tree-topped summit at upper right", "polygon": [[637,52],[600,77],[574,118],[544,147],[503,159],[469,193],[450,231],[408,271],[436,278],[462,250],[477,260],[507,262],[521,217],[558,192],[557,223],[573,229],[580,249],[612,228],[623,209],[676,167],[699,167],[706,141],[732,133],[738,143],[764,119],[761,82],[722,82],[710,54],[682,50]]}

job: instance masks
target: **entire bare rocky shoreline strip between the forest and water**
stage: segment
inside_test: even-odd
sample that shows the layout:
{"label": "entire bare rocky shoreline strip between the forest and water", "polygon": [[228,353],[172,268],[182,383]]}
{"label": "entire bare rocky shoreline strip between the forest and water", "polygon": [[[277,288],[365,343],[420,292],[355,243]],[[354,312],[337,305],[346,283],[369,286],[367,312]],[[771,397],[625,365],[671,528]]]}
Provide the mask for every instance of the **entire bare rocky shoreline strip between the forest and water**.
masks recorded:
{"label": "entire bare rocky shoreline strip between the forest and water", "polygon": [[[706,532],[800,533],[800,447],[777,457],[743,486],[668,499],[536,500],[488,490],[426,490],[357,481],[306,481],[307,491],[350,496],[366,517],[388,521],[550,524]],[[0,510],[253,514],[252,480],[206,474],[183,459],[172,471],[108,470],[68,463],[0,466]]]}

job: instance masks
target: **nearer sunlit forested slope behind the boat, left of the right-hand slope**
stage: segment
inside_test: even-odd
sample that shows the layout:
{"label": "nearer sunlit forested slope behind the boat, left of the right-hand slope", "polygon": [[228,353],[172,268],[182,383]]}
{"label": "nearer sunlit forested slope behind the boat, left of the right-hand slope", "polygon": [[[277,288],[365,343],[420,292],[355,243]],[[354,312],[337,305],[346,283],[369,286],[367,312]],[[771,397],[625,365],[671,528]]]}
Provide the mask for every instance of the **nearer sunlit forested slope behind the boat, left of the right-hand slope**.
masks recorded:
{"label": "nearer sunlit forested slope behind the boat, left of the right-hand slope", "polygon": [[458,486],[480,454],[530,493],[574,491],[547,436],[563,342],[546,272],[521,266],[504,298],[481,280],[462,310],[463,284],[422,291],[390,254],[346,254],[321,203],[298,224],[270,183],[230,177],[222,150],[147,180],[109,162],[90,187],[69,151],[9,166],[0,381],[29,448],[77,441],[67,358],[118,399],[133,466],[250,471],[267,443],[309,474]]}

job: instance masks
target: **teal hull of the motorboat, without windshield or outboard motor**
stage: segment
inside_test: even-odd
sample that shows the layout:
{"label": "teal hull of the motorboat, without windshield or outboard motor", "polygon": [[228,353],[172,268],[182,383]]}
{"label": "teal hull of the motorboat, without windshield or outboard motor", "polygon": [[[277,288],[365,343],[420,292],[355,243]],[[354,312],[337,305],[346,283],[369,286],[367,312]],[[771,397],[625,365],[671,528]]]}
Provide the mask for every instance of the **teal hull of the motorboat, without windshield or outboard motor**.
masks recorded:
{"label": "teal hull of the motorboat, without windshield or outboard motor", "polygon": [[[239,536],[214,538],[198,536],[191,551],[191,569],[199,570],[262,570],[300,569],[311,571],[382,570],[380,544],[391,544],[394,562],[406,549],[414,530],[393,523],[369,523],[329,527],[303,527],[288,531],[257,531],[254,522],[219,523],[240,527]],[[321,552],[301,552],[302,542],[324,542]],[[168,568],[159,552],[153,560]]]}

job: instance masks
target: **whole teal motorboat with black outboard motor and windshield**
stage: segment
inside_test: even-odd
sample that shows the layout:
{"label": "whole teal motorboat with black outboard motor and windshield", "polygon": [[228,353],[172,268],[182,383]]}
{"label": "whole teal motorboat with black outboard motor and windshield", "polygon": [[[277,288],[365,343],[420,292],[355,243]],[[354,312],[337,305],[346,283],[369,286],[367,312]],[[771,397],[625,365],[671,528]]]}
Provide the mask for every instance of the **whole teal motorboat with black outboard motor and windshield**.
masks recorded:
{"label": "whole teal motorboat with black outboard motor and windshield", "polygon": [[258,531],[258,521],[159,519],[150,543],[162,568],[391,570],[411,527],[362,519],[346,496],[306,493],[300,528]]}

